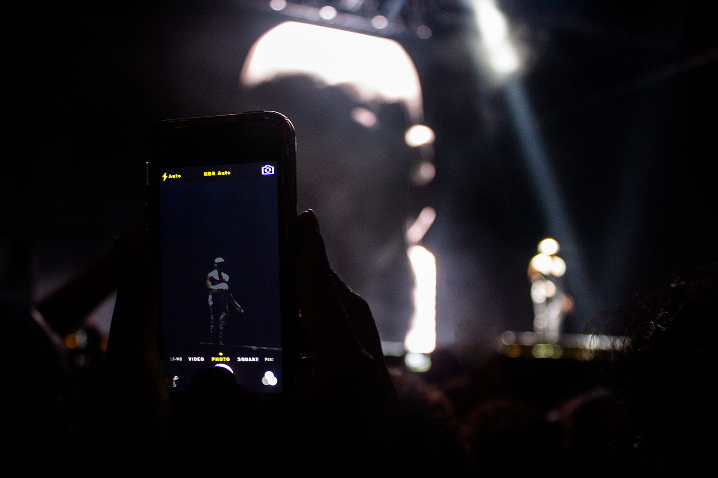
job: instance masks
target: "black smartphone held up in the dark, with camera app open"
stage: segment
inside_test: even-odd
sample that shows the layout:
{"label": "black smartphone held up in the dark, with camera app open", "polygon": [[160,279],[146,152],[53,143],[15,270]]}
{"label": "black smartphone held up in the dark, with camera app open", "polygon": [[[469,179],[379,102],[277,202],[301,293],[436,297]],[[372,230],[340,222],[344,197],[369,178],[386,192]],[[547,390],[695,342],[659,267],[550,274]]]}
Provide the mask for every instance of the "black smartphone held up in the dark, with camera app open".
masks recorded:
{"label": "black smartphone held up in the dark, with camera app open", "polygon": [[273,111],[162,121],[149,134],[147,239],[171,390],[224,367],[253,392],[289,392],[295,151],[292,123]]}

